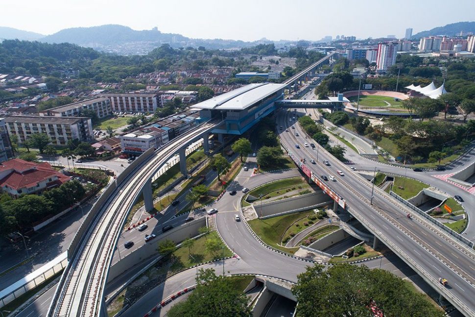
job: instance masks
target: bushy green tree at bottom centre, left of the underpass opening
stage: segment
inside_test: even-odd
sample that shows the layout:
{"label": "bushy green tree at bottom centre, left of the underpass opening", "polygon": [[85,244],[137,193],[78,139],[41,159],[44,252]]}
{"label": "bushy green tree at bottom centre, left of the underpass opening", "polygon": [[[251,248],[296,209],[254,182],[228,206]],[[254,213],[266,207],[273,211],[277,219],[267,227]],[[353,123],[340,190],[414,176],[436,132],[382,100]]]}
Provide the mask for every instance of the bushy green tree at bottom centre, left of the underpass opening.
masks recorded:
{"label": "bushy green tree at bottom centre, left of the underpass opening", "polygon": [[214,269],[200,269],[196,288],[168,311],[169,317],[250,317],[247,296],[232,283],[235,277],[216,276]]}

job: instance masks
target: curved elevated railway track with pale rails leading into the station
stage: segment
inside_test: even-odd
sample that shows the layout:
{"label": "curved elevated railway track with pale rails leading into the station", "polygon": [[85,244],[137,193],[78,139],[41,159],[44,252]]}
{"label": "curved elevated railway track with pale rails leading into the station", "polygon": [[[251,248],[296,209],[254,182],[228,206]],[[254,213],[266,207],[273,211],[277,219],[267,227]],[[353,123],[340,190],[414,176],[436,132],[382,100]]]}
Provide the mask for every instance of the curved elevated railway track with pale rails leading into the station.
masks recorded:
{"label": "curved elevated railway track with pale rails leading into the station", "polygon": [[101,301],[122,223],[142,187],[180,147],[208,131],[216,123],[204,123],[174,139],[128,175],[128,180],[116,190],[119,195],[104,206],[103,212],[98,215],[79,251],[63,273],[48,316],[100,315],[101,309],[105,309],[101,308]]}

